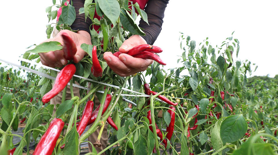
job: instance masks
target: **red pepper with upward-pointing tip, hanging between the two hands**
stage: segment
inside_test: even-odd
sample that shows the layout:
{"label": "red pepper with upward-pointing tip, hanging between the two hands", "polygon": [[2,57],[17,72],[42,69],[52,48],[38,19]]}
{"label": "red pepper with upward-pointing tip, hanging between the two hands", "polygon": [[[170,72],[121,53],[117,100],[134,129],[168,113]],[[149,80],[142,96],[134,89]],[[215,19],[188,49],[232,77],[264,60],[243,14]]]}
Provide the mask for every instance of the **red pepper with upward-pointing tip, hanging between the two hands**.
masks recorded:
{"label": "red pepper with upward-pointing tip, hanging between the two hands", "polygon": [[102,76],[102,68],[99,64],[99,60],[97,59],[97,47],[93,47],[92,51],[92,61],[93,66],[91,68],[91,72],[93,73],[94,77],[101,77]]}

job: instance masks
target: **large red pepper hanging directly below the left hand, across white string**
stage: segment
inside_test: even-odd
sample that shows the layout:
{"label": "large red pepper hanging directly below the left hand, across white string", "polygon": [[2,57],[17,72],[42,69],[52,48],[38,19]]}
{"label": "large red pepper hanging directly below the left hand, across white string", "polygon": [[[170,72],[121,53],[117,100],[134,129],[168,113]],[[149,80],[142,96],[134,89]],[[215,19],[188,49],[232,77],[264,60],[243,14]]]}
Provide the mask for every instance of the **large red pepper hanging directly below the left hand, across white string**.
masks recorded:
{"label": "large red pepper hanging directly below the left hand, across white string", "polygon": [[75,65],[73,64],[66,65],[60,71],[60,73],[58,73],[52,89],[48,93],[44,94],[44,96],[42,97],[42,102],[45,104],[49,102],[51,98],[59,94],[68,84],[68,82],[71,80],[75,71],[76,71]]}

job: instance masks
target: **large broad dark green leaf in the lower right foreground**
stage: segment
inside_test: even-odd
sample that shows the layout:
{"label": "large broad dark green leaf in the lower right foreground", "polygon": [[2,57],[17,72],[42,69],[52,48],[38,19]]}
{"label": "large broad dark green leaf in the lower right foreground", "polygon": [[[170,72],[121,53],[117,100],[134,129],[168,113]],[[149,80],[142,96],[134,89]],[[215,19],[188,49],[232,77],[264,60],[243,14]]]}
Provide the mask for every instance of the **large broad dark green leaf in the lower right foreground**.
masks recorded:
{"label": "large broad dark green leaf in the lower right foreground", "polygon": [[225,118],[220,127],[220,135],[223,144],[239,140],[247,131],[247,123],[242,114]]}

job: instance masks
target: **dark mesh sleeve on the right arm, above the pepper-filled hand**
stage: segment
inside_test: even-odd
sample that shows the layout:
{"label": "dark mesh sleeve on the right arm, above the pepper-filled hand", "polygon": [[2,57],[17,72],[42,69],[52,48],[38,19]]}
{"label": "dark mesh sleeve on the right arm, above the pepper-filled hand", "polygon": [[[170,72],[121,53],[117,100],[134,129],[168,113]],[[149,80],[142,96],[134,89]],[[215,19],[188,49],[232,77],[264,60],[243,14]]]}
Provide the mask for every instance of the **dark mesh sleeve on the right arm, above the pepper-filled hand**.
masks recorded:
{"label": "dark mesh sleeve on the right arm, above the pepper-filled hand", "polygon": [[139,27],[143,28],[146,36],[142,36],[150,45],[154,43],[158,37],[164,18],[164,11],[169,0],[149,0],[145,8],[148,15],[148,25],[143,19],[140,20]]}

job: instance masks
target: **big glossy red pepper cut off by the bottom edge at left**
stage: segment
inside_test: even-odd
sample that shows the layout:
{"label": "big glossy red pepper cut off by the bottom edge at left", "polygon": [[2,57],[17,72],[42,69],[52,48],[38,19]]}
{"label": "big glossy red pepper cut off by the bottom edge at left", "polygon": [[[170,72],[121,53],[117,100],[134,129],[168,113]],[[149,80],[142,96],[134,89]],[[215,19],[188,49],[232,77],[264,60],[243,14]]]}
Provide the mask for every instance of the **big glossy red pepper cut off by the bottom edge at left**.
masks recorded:
{"label": "big glossy red pepper cut off by the bottom edge at left", "polygon": [[42,135],[33,155],[51,155],[63,127],[64,122],[59,118],[54,118]]}

